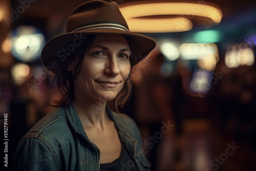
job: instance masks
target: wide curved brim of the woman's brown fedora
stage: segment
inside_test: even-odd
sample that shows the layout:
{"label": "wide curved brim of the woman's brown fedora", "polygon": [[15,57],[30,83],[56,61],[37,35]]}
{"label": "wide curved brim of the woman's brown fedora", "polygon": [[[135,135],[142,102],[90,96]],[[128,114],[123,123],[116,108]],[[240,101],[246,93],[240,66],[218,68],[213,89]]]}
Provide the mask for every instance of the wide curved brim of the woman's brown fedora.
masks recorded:
{"label": "wide curved brim of the woman's brown fedora", "polygon": [[[70,32],[60,34],[47,42],[41,52],[42,63],[54,72],[58,63],[63,62],[63,60],[68,57],[72,57],[69,56],[70,52],[78,48],[79,45],[81,45],[80,42],[86,40],[86,37],[92,34],[120,34],[132,36],[135,50],[138,53],[137,62],[144,59],[156,46],[155,40],[151,37],[116,29]],[[66,49],[65,53],[63,49]]]}

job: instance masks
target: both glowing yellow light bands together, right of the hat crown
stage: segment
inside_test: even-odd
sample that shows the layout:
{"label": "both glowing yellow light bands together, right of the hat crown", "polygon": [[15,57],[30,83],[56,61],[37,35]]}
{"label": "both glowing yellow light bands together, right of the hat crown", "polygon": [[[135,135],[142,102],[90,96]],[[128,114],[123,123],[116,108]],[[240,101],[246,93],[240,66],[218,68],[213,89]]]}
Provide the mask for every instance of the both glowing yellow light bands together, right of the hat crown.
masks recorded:
{"label": "both glowing yellow light bands together, right of the hat crown", "polygon": [[[211,18],[219,24],[222,13],[219,9],[195,3],[150,3],[120,7],[120,11],[133,32],[180,32],[188,31],[193,25],[189,19],[195,16]],[[150,16],[181,15],[182,17],[149,19]],[[138,18],[145,17],[148,18]]]}

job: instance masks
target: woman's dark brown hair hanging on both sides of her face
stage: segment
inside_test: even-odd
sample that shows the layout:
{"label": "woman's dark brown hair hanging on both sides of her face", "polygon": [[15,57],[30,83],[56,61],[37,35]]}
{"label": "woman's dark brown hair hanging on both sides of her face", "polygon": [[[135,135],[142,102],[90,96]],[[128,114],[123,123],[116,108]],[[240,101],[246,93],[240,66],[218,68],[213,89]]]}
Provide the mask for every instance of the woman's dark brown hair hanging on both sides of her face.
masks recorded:
{"label": "woman's dark brown hair hanging on both sides of her face", "polygon": [[[76,78],[77,73],[80,71],[80,65],[83,60],[83,57],[87,53],[88,48],[90,47],[95,35],[89,35],[86,40],[71,54],[67,60],[60,63],[59,67],[55,70],[53,83],[56,83],[57,89],[62,95],[60,100],[55,100],[54,105],[51,106],[69,106],[74,99],[74,79]],[[123,35],[125,40],[128,42],[131,49],[130,63],[131,67],[133,67],[137,63],[137,53],[135,51],[135,47],[133,44],[133,38],[131,36]],[[75,63],[75,71],[72,74],[71,71],[68,71],[68,65],[70,63]],[[112,110],[119,111],[119,109],[123,109],[125,103],[130,100],[132,92],[132,82],[129,77],[125,80],[123,88],[117,94],[116,98],[112,100],[114,104],[114,108]]]}

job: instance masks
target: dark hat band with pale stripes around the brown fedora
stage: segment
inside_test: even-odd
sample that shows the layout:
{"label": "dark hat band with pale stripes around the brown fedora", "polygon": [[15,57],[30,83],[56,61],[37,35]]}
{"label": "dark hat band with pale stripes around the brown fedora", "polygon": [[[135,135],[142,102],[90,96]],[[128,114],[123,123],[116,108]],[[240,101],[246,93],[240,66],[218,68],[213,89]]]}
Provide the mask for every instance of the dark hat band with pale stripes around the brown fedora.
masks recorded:
{"label": "dark hat band with pale stripes around the brown fedora", "polygon": [[88,30],[96,30],[96,29],[118,29],[123,31],[129,31],[122,25],[119,24],[111,24],[111,23],[102,23],[102,24],[94,24],[94,25],[87,25],[83,27],[79,27],[71,32],[75,31],[88,31]]}

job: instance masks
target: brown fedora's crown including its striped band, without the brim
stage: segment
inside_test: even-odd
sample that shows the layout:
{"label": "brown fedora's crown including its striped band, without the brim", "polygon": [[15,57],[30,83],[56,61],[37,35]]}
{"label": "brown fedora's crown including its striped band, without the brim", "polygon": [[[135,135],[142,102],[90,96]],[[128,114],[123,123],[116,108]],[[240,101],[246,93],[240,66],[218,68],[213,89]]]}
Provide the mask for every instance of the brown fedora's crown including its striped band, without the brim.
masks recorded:
{"label": "brown fedora's crown including its striped band, without the brim", "polygon": [[78,6],[70,15],[66,32],[94,29],[119,29],[129,27],[116,2],[90,1]]}

